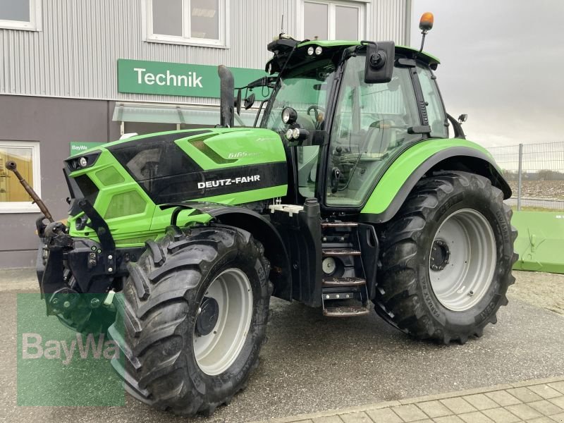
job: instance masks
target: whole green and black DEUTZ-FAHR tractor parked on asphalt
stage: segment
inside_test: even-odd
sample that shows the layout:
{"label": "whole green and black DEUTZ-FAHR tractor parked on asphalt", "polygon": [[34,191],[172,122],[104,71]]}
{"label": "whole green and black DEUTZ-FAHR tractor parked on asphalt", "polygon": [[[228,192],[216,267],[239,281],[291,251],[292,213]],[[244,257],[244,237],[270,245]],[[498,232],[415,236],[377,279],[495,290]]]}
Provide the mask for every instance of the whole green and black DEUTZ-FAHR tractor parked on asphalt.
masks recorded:
{"label": "whole green and black DEUTZ-FAHR tractor parked on asphalt", "polygon": [[107,331],[128,392],[161,410],[213,412],[245,386],[273,295],[446,344],[508,302],[511,191],[446,114],[439,61],[393,42],[268,49],[269,76],[243,87],[247,108],[271,93],[253,127],[234,127],[220,66],[221,125],[67,159],[67,223],[37,199],[48,314]]}

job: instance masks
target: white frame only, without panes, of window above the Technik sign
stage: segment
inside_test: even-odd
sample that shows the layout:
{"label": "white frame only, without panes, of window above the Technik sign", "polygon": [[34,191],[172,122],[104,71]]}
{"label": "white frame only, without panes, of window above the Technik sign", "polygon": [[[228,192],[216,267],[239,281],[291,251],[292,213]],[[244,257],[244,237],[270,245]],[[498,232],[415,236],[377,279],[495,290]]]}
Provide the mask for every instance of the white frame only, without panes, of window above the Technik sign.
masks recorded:
{"label": "white frame only, without panes, of window above the Technik sign", "polygon": [[153,1],[145,0],[145,7],[142,8],[142,24],[145,30],[146,42],[157,42],[162,44],[183,44],[197,47],[215,47],[218,49],[229,48],[231,0],[219,0],[219,39],[195,38],[190,37],[191,16],[190,0],[182,0],[183,4],[183,35],[163,35],[153,32]]}

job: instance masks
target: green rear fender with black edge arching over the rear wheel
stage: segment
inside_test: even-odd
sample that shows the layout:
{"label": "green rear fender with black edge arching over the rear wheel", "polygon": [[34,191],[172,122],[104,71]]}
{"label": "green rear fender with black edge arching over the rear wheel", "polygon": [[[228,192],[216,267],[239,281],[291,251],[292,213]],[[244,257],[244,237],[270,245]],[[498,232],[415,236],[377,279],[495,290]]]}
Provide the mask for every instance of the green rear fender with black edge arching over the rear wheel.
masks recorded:
{"label": "green rear fender with black edge arching over the rear wheel", "polygon": [[419,142],[398,157],[386,170],[360,211],[360,220],[384,223],[396,215],[415,184],[431,171],[467,171],[485,176],[503,191],[511,188],[494,157],[475,142],[452,138]]}

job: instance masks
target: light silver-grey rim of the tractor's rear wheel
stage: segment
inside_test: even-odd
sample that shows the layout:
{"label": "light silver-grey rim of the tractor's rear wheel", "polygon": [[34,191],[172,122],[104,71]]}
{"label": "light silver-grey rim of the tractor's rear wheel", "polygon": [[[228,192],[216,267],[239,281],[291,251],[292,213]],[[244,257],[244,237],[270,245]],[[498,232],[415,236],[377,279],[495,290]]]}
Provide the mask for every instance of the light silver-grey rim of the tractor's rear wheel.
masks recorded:
{"label": "light silver-grey rim of the tractor's rear wheel", "polygon": [[496,261],[496,238],[486,218],[473,209],[450,214],[429,254],[429,278],[437,300],[455,312],[474,307],[486,295]]}

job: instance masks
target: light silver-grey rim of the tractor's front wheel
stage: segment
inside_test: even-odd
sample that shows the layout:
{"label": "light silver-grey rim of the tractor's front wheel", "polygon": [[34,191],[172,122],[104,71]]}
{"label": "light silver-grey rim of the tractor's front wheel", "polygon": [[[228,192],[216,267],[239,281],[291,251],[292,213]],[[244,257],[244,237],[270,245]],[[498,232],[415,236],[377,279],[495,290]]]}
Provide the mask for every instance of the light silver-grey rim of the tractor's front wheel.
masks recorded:
{"label": "light silver-grey rim of the tractor's front wheel", "polygon": [[206,335],[195,328],[193,345],[202,372],[214,376],[225,372],[235,362],[245,344],[252,319],[249,278],[240,269],[221,272],[209,285],[198,307],[199,317],[206,298],[217,303],[216,324]]}

